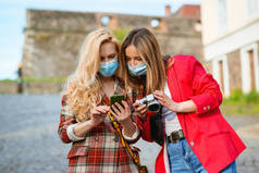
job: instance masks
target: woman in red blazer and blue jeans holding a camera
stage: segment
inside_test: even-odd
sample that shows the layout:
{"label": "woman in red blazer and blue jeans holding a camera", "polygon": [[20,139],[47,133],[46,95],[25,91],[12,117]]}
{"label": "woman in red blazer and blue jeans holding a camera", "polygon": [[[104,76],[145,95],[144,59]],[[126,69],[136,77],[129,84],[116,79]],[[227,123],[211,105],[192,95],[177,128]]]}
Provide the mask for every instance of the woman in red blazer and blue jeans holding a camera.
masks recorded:
{"label": "woman in red blazer and blue jeans holding a camera", "polygon": [[[156,173],[235,173],[235,159],[246,146],[222,116],[220,87],[199,61],[182,54],[163,60],[146,28],[133,29],[121,52],[126,87],[144,88],[162,106],[150,112],[146,104],[133,104],[141,137],[162,146]],[[152,131],[157,126],[150,120],[156,116],[161,119],[162,138],[157,138],[159,128]]]}

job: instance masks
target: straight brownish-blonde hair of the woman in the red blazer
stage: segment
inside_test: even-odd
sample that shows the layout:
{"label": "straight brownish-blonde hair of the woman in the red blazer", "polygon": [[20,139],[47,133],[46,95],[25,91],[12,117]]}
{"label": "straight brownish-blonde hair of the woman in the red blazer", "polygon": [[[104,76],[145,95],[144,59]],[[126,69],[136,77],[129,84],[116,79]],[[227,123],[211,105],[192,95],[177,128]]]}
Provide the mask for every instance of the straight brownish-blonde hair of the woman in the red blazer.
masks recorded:
{"label": "straight brownish-blonde hair of the woman in the red blazer", "polygon": [[146,95],[151,94],[155,90],[162,90],[166,81],[165,65],[156,37],[146,28],[131,30],[123,40],[119,62],[121,63],[121,71],[123,72],[126,87],[139,89],[139,86],[137,86],[138,84],[136,85],[136,78],[131,75],[126,67],[127,62],[125,50],[131,45],[137,49],[140,58],[147,66]]}

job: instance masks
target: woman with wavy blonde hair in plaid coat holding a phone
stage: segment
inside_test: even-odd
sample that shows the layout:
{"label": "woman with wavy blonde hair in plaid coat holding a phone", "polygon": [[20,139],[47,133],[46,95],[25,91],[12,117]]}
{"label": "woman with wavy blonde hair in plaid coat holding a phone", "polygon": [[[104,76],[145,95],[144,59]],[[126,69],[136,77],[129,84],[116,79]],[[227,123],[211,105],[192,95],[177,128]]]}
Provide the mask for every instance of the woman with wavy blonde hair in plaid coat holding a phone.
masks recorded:
{"label": "woman with wavy blonde hair in plaid coat holding a phone", "polygon": [[[110,96],[125,94],[115,75],[119,53],[118,41],[103,28],[91,32],[82,45],[78,66],[63,90],[58,131],[63,143],[72,143],[69,173],[137,172],[107,116]],[[123,106],[113,115],[124,136],[137,139],[128,103]]]}

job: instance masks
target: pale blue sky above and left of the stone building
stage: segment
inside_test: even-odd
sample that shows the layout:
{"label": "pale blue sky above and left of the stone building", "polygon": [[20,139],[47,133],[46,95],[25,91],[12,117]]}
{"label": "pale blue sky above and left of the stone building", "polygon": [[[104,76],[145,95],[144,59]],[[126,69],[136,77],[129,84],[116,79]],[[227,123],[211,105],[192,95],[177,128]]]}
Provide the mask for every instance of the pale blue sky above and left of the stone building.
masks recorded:
{"label": "pale blue sky above and left of the stone building", "polygon": [[166,4],[175,12],[183,4],[200,4],[200,0],[0,0],[0,79],[17,76],[26,9],[163,16]]}

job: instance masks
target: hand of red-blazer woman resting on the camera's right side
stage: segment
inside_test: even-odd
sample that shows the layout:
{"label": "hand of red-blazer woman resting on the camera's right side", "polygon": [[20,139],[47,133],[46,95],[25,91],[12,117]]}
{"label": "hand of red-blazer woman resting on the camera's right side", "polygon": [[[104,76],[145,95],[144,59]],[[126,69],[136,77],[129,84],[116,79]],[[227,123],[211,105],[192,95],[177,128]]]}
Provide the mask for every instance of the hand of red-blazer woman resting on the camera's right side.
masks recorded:
{"label": "hand of red-blazer woman resting on the camera's right side", "polygon": [[156,90],[153,95],[161,106],[172,112],[177,112],[177,102],[174,102],[170,97],[168,97],[168,95],[164,94],[164,91]]}

